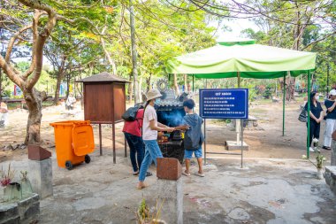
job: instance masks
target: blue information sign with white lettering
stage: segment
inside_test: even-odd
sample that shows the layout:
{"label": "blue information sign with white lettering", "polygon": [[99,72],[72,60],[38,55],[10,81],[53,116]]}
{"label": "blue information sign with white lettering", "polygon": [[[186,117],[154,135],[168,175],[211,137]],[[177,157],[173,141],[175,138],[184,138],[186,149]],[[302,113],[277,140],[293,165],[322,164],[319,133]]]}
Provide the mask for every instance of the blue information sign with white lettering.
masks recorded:
{"label": "blue information sign with white lettering", "polygon": [[248,89],[200,89],[204,119],[248,119]]}

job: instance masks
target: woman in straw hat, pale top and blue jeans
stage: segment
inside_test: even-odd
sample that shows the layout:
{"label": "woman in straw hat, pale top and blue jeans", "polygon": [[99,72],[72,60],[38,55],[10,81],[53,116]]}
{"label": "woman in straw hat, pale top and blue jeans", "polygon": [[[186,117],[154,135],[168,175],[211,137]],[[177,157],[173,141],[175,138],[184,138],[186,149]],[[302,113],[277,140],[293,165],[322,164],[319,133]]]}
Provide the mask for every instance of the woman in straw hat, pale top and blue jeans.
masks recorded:
{"label": "woman in straw hat, pale top and blue jeans", "polygon": [[157,144],[157,131],[174,131],[174,127],[168,127],[160,122],[157,122],[157,112],[154,109],[154,104],[160,100],[162,95],[157,89],[150,89],[146,94],[147,103],[145,106],[145,112],[143,115],[142,124],[142,139],[146,145],[145,157],[142,160],[140,173],[139,173],[139,183],[137,189],[143,189],[147,187],[144,181],[146,178],[147,170],[154,160],[157,166],[157,158],[163,158],[162,152]]}

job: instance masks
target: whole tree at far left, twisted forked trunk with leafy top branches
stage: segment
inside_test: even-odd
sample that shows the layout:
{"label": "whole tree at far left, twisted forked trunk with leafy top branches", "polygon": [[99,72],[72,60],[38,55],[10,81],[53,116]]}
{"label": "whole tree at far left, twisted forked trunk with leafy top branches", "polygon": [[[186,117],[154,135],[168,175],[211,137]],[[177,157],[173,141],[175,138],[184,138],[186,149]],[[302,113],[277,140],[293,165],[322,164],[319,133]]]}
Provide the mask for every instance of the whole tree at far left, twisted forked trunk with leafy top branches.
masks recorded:
{"label": "whole tree at far left, twisted forked trunk with leafy top branches", "polygon": [[[84,6],[81,1],[74,0],[47,3],[39,0],[6,1],[1,11],[4,19],[0,24],[11,34],[11,39],[6,44],[5,56],[0,55],[0,67],[22,89],[27,103],[29,115],[25,143],[41,142],[42,101],[47,96],[44,91],[35,89],[34,85],[42,73],[44,44],[53,32],[57,20],[65,20],[73,26],[91,30],[90,25],[97,19],[95,15],[106,13],[100,3]],[[20,73],[11,64],[12,51],[15,45],[22,42],[26,42],[31,50],[31,63],[25,73]]]}

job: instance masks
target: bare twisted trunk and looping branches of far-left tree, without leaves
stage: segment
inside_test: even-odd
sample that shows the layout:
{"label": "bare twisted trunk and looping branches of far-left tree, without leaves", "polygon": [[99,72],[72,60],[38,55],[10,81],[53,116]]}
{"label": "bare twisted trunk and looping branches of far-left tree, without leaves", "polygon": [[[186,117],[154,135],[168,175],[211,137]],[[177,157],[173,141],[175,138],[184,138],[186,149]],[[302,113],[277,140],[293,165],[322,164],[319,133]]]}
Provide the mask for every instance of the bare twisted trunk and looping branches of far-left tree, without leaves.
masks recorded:
{"label": "bare twisted trunk and looping branches of far-left tree, without leaves", "polygon": [[[45,92],[34,89],[34,85],[39,80],[42,72],[43,46],[47,38],[50,36],[57,22],[57,13],[52,7],[41,4],[39,1],[19,0],[21,4],[34,9],[33,22],[31,24],[22,24],[18,30],[11,36],[8,42],[5,57],[0,56],[0,66],[4,69],[4,73],[15,84],[22,89],[26,104],[29,110],[27,122],[27,136],[25,143],[40,143],[40,126],[42,119],[42,101],[46,99]],[[40,19],[48,16],[46,23],[42,23]],[[21,25],[21,24],[20,24]],[[20,73],[11,66],[10,58],[13,46],[18,40],[24,39],[24,34],[31,30],[33,37],[32,44],[32,62],[25,73]]]}

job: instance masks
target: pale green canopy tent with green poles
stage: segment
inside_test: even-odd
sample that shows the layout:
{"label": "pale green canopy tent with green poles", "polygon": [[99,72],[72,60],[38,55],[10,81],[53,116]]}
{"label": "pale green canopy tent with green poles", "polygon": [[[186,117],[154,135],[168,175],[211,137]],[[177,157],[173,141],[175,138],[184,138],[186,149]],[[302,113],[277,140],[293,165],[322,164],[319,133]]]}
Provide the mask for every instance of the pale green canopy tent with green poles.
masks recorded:
{"label": "pale green canopy tent with green poles", "polygon": [[[315,70],[316,58],[316,53],[281,49],[256,44],[255,40],[241,39],[218,42],[216,46],[208,49],[172,58],[168,62],[167,72],[187,73],[202,79],[237,77],[238,82],[241,78],[286,79],[287,75],[296,77],[305,73],[308,75],[308,89],[310,89],[311,71]],[[285,88],[283,100],[284,135]],[[309,100],[308,104],[310,104]],[[307,143],[307,155],[309,157],[309,143]]]}

